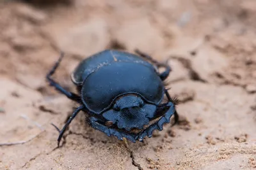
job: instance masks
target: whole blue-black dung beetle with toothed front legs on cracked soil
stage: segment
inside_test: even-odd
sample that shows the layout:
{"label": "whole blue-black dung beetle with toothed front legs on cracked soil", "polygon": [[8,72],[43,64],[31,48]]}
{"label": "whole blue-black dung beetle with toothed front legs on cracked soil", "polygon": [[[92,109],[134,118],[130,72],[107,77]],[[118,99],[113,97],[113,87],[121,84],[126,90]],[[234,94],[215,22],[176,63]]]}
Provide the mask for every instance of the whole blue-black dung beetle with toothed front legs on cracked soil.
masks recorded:
{"label": "whole blue-black dung beetle with toothed front legs on cracked soil", "polygon": [[[135,52],[138,55],[104,50],[82,60],[71,74],[78,94],[68,92],[51,78],[63,59],[61,53],[47,74],[47,80],[79,106],[61,131],[54,125],[60,132],[58,146],[65,129],[79,111],[87,113],[88,124],[94,129],[133,143],[142,142],[145,136],[151,138],[155,129],[162,131],[163,124],[170,123],[172,115],[175,123],[179,120],[175,99],[170,97],[164,84],[170,66],[139,50]],[[159,73],[160,67],[164,67],[162,73]]]}

